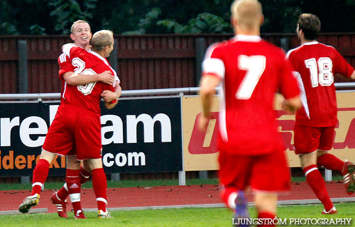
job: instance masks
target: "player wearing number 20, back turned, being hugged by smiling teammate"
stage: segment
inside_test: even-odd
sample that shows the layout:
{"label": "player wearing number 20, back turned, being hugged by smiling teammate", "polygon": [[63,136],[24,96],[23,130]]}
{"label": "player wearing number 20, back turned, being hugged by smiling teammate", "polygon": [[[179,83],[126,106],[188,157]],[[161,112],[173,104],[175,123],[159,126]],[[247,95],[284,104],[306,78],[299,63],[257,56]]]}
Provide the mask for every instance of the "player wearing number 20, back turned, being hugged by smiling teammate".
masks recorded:
{"label": "player wearing number 20, back turned, being hugged by smiling teammate", "polygon": [[[92,38],[92,51],[78,47],[74,44],[63,46],[63,52],[72,59],[77,66],[76,73],[94,75],[104,71],[116,72],[105,59],[113,50],[114,38],[112,31],[101,30]],[[102,168],[101,160],[101,123],[99,102],[105,90],[115,91],[119,86],[119,79],[113,85],[95,82],[87,85],[66,86],[63,91],[62,105],[49,128],[43,145],[39,163],[33,170],[32,195],[27,197],[20,205],[23,213],[39,203],[41,187],[48,176],[49,164],[55,154],[66,155],[76,146],[77,172],[67,176],[69,196],[72,200],[76,218],[85,218],[80,204],[80,160],[84,160],[92,170],[93,187],[98,203],[98,217],[110,217],[106,210],[107,181]],[[106,100],[108,109],[115,107],[117,100]],[[71,190],[70,190],[71,189]]]}

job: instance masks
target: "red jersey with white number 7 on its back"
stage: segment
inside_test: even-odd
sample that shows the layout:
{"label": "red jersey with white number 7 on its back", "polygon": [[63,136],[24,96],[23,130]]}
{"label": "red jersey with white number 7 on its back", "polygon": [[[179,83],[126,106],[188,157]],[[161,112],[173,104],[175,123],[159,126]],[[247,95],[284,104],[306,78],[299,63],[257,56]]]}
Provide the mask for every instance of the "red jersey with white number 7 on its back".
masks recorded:
{"label": "red jersey with white number 7 on its back", "polygon": [[299,94],[285,52],[259,36],[236,36],[210,46],[202,67],[203,75],[222,79],[219,146],[238,155],[280,150],[275,92],[286,99]]}

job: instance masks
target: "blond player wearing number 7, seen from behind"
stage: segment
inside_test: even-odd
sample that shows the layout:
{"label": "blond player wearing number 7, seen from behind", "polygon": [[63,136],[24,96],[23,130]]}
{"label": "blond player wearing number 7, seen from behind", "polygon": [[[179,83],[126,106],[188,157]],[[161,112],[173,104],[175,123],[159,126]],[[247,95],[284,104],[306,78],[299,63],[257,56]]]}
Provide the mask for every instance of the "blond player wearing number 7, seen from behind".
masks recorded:
{"label": "blond player wearing number 7, seen from behind", "polygon": [[299,89],[285,52],[260,38],[261,4],[237,0],[231,11],[236,36],[211,45],[202,63],[199,125],[206,128],[215,87],[221,84],[218,148],[222,199],[235,210],[236,218],[246,218],[243,191],[250,186],[258,218],[274,219],[277,192],[290,190],[291,182],[285,146],[277,132],[274,97],[279,91],[286,99],[283,107],[296,110],[301,107]]}

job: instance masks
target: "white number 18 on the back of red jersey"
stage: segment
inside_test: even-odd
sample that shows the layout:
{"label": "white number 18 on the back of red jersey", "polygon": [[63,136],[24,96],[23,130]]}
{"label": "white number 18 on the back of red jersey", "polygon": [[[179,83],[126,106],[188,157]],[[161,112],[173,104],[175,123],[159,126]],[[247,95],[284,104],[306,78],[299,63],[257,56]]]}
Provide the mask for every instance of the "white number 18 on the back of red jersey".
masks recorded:
{"label": "white number 18 on the back of red jersey", "polygon": [[[321,57],[318,62],[315,58],[304,61],[306,68],[309,69],[312,87],[330,86],[334,82],[333,62],[329,57]],[[318,73],[319,70],[319,73]]]}

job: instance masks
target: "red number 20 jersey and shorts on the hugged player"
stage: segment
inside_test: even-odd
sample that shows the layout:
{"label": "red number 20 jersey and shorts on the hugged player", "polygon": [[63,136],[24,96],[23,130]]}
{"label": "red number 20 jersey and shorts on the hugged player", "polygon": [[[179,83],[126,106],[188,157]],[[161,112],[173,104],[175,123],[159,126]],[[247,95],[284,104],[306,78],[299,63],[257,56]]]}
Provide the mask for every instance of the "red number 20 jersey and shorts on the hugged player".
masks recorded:
{"label": "red number 20 jersey and shorts on the hugged player", "polygon": [[[94,51],[66,44],[63,46],[63,53],[72,60],[75,73],[94,75],[110,70],[115,75],[116,81],[114,85],[102,82],[80,86],[64,84],[62,102],[43,149],[65,155],[76,146],[78,160],[100,158],[102,149],[100,94],[103,90],[115,91],[115,84],[120,80],[108,61]],[[65,72],[73,71],[73,66],[65,63],[64,59],[66,58],[59,64],[59,77]]]}

